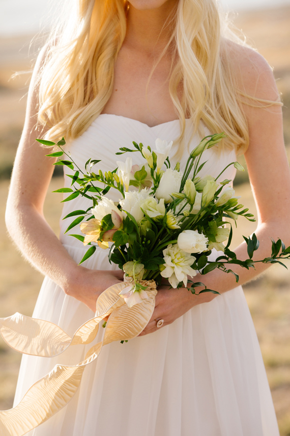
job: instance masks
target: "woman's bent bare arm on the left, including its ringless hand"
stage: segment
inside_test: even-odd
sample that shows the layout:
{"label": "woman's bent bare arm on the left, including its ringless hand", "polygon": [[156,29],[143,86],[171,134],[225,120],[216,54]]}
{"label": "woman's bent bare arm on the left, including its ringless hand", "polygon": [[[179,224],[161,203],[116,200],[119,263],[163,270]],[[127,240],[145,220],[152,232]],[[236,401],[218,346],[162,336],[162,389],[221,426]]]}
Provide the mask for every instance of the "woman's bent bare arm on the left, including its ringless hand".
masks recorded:
{"label": "woman's bent bare arm on the left, including its ringless hand", "polygon": [[119,271],[92,271],[78,266],[43,216],[43,203],[53,172],[54,158],[36,142],[43,132],[37,120],[37,74],[44,52],[37,60],[28,92],[23,133],[14,162],[6,209],[8,232],[24,257],[48,275],[67,294],[95,311],[98,295],[122,278]]}

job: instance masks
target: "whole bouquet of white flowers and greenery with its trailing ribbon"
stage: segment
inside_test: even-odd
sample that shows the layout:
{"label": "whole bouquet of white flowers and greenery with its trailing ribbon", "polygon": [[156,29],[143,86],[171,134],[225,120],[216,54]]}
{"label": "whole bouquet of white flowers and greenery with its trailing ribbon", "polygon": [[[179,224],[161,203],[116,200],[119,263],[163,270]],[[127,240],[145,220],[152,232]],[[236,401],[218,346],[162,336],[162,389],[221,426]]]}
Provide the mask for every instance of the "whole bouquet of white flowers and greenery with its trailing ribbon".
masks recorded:
{"label": "whole bouquet of white flowers and greenery with its trailing ribbon", "polygon": [[[214,147],[224,134],[210,135],[195,147],[182,171],[177,163],[171,168],[168,153],[172,142],[156,140],[156,148],[133,142],[134,148],[122,147],[123,153],[141,153],[143,164],[134,165],[129,157],[117,161],[113,171],[94,169],[99,160],[89,159],[82,170],[78,168],[62,139],[57,144],[38,140],[48,146],[57,146],[48,156],[61,158],[55,165],[72,170],[70,188],[57,192],[68,193],[63,201],[79,195],[91,201],[87,210],[75,210],[64,219],[73,218],[66,232],[80,225],[84,236],[72,234],[89,248],[80,263],[90,258],[96,249],[107,249],[108,259],[124,271],[124,282],[111,286],[100,294],[94,318],[82,324],[71,337],[59,325],[42,319],[14,314],[0,319],[0,333],[5,341],[21,353],[53,357],[74,345],[90,344],[97,336],[99,323],[104,319],[102,340],[86,352],[84,359],[75,364],[55,365],[52,371],[36,381],[20,403],[8,411],[0,411],[3,436],[22,436],[49,419],[74,396],[86,365],[94,362],[103,345],[113,341],[127,342],[140,334],[148,324],[155,307],[156,285],[161,279],[168,286],[188,287],[193,294],[213,292],[201,282],[191,280],[197,272],[205,275],[215,268],[238,275],[231,264],[244,268],[255,262],[280,263],[290,257],[280,239],[272,241],[271,256],[253,261],[259,242],[255,236],[245,238],[248,259],[241,261],[230,250],[232,235],[230,222],[239,216],[254,220],[235,196],[230,180],[207,175],[200,177],[205,165],[202,153]],[[66,159],[63,159],[65,155]],[[164,166],[163,166],[164,165]],[[238,162],[232,162],[243,170]],[[228,166],[229,166],[228,165]],[[120,199],[113,202],[110,190],[119,192]],[[216,249],[217,258],[209,258]],[[220,254],[220,255],[219,255]],[[284,266],[284,265],[283,265]],[[160,320],[162,321],[162,320]],[[161,325],[161,324],[160,324]]]}

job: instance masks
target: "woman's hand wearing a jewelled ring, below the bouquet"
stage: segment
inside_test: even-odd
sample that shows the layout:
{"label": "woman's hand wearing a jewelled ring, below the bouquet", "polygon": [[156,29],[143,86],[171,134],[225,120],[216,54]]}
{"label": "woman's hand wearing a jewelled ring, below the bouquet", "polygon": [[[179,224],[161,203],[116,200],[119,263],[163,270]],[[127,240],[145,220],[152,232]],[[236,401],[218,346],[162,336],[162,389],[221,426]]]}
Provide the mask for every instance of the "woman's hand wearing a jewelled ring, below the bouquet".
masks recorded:
{"label": "woman's hand wearing a jewelled ring, below the bouquet", "polygon": [[168,286],[160,286],[155,297],[155,309],[152,317],[139,336],[144,336],[158,330],[156,319],[164,319],[163,326],[171,324],[193,306],[212,301],[216,296],[217,294],[212,292],[192,295],[186,288],[169,289]]}

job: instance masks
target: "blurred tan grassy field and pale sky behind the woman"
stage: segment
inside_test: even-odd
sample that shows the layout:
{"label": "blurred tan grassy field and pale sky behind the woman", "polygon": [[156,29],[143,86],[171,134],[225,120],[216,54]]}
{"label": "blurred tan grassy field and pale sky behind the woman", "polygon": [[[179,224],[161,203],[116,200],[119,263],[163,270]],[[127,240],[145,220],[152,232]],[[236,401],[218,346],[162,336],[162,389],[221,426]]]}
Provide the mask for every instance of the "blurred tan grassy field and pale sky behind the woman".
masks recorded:
{"label": "blurred tan grassy field and pale sky behind the woman", "polygon": [[[237,28],[274,68],[284,102],[284,138],[290,158],[290,0],[221,0]],[[13,160],[24,121],[26,92],[31,70],[41,45],[32,38],[47,29],[56,0],[0,0],[0,317],[16,311],[31,316],[42,283],[17,251],[6,232],[4,214]],[[16,71],[25,73],[11,79]],[[243,158],[241,158],[243,163]],[[45,215],[59,233],[62,186],[60,175],[51,181]],[[255,213],[247,173],[239,173],[235,189]],[[239,222],[235,244],[248,236],[254,223]],[[272,266],[244,287],[268,374],[281,436],[290,436],[290,272]],[[0,340],[0,409],[12,407],[20,354]],[[233,435],[234,436],[234,435]]]}

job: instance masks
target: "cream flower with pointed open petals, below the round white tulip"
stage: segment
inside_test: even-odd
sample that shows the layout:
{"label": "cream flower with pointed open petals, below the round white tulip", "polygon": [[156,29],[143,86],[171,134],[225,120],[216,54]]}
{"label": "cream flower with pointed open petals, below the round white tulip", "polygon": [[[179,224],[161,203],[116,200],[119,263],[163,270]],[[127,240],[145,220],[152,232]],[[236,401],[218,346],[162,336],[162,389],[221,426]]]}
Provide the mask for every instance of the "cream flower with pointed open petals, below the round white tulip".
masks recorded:
{"label": "cream flower with pointed open petals, below the round white tulip", "polygon": [[181,250],[177,244],[169,244],[163,250],[163,256],[165,264],[162,265],[160,274],[162,277],[168,278],[172,288],[177,288],[180,281],[183,281],[184,286],[186,286],[187,276],[194,277],[196,275],[196,271],[190,267],[195,258]]}

